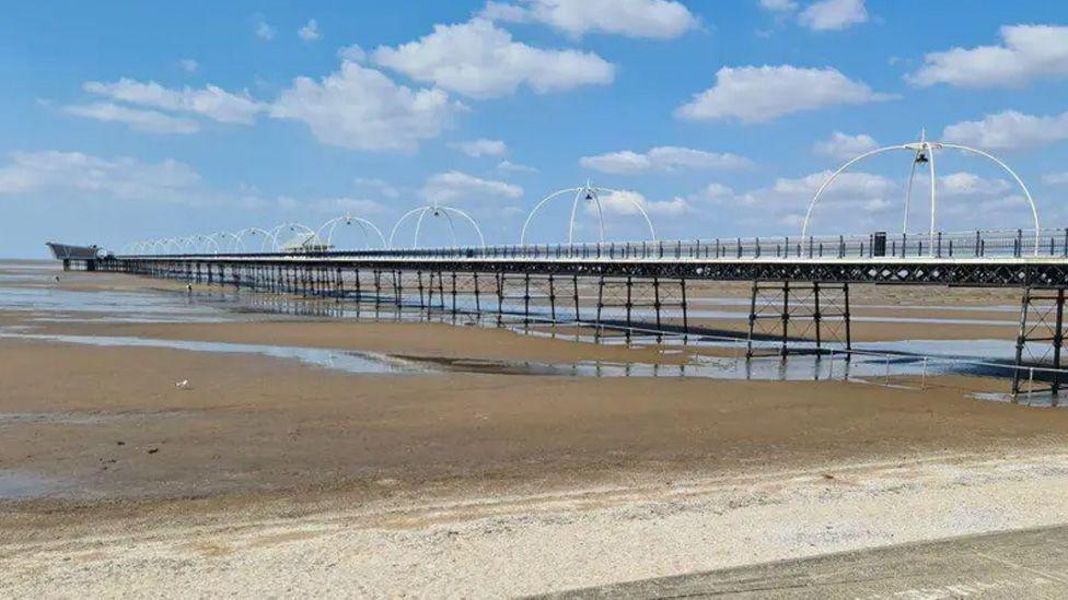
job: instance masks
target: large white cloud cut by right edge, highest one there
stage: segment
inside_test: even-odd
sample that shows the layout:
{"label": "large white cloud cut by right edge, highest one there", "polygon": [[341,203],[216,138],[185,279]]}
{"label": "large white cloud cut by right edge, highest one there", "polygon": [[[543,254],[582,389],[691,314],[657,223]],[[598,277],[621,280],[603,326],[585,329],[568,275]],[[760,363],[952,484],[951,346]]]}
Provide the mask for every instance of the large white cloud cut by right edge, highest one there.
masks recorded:
{"label": "large white cloud cut by right edge, highest one there", "polygon": [[931,52],[906,75],[914,85],[1019,86],[1043,77],[1068,77],[1068,27],[1007,25],[1002,44]]}

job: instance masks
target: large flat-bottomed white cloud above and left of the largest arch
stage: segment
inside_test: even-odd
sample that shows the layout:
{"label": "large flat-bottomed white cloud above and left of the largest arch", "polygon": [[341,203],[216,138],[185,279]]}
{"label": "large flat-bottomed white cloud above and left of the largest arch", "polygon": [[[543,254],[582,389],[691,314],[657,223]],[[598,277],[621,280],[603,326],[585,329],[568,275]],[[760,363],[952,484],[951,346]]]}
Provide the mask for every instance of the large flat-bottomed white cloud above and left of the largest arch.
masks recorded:
{"label": "large flat-bottomed white cloud above and left of the largest arch", "polygon": [[716,73],[716,85],[695,94],[675,114],[685,119],[738,119],[752,123],[801,110],[891,97],[829,67],[723,67]]}

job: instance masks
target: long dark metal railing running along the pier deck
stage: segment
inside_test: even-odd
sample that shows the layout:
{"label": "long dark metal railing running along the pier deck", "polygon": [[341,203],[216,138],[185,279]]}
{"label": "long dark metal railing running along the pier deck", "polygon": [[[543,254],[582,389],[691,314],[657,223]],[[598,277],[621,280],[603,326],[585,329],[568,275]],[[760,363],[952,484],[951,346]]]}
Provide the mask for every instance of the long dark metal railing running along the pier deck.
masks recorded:
{"label": "long dark metal railing running along the pier deck", "polygon": [[326,251],[220,251],[211,254],[139,255],[144,257],[381,257],[471,259],[872,259],[872,258],[1068,258],[1068,228],[994,230],[839,236],[767,236],[693,240],[526,244],[440,248],[390,248]]}

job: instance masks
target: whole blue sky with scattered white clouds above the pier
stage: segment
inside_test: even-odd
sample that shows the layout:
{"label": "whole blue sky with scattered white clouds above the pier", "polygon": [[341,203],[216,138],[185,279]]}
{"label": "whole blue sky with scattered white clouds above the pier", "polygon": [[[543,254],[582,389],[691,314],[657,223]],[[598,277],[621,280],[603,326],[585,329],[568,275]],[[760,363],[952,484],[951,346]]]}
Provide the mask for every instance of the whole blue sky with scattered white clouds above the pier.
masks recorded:
{"label": "whole blue sky with scattered white clouds above the pier", "polygon": [[[661,239],[798,235],[839,165],[921,131],[1002,160],[1064,227],[1066,16],[1048,0],[12,2],[0,256],[345,215],[410,246],[417,219],[397,220],[432,204],[515,244],[542,199],[587,183],[606,239],[649,239],[639,209]],[[810,233],[899,232],[913,158],[851,166]],[[939,230],[1033,226],[992,162],[936,164]],[[909,232],[930,226],[929,189],[920,169]],[[572,200],[547,201],[527,242],[567,242]],[[477,243],[449,214],[419,245]],[[338,247],[382,245],[344,223]],[[597,231],[580,199],[576,240]]]}

